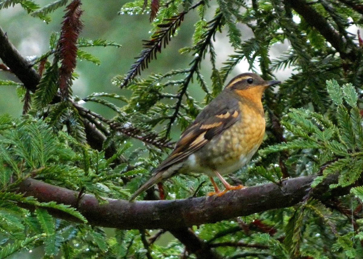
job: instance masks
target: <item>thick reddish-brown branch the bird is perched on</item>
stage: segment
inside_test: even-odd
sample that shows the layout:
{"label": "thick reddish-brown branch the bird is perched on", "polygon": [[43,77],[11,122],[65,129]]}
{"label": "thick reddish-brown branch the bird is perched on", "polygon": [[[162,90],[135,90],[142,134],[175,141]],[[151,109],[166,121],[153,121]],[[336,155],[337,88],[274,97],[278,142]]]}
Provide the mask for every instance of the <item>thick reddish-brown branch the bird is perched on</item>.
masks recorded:
{"label": "thick reddish-brown branch the bird is perched on", "polygon": [[[31,178],[19,185],[19,192],[33,196],[41,202],[56,201],[76,207],[91,225],[120,229],[176,230],[204,223],[245,216],[271,209],[290,207],[309,194],[323,199],[329,193],[329,185],[337,182],[337,176],[328,177],[310,192],[315,176],[287,179],[281,185],[267,183],[229,191],[221,197],[200,197],[167,201],[136,201],[107,199],[100,205],[97,199],[85,194],[77,203],[78,193],[50,185]],[[334,189],[331,196],[343,195],[349,188]],[[51,213],[54,213],[53,211]],[[57,213],[57,217],[74,220],[68,214]]]}

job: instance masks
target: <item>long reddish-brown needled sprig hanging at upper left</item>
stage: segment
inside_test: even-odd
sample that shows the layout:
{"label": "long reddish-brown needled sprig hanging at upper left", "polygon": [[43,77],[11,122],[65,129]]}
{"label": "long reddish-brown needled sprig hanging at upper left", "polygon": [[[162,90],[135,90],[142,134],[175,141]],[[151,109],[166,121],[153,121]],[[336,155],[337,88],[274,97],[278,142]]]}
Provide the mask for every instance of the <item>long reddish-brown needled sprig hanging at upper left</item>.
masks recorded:
{"label": "long reddish-brown needled sprig hanging at upper left", "polygon": [[59,71],[59,88],[62,97],[68,98],[69,86],[74,68],[76,67],[77,39],[82,30],[83,23],[80,19],[82,10],[81,1],[73,0],[65,9],[67,13],[63,16],[64,21],[61,36],[58,43],[61,68]]}

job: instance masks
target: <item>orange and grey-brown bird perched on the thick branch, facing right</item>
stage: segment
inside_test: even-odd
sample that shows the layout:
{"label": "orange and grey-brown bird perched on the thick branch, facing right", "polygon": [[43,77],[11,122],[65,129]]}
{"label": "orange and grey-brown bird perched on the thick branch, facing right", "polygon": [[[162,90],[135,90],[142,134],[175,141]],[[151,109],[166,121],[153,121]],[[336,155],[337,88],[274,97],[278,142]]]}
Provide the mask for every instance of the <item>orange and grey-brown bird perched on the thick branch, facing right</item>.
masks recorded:
{"label": "orange and grey-brown bird perched on the thick branch, facing right", "polygon": [[[281,81],[265,81],[254,73],[242,73],[225,86],[199,113],[175,144],[174,150],[154,169],[151,178],[131,195],[132,202],[140,193],[176,174],[207,174],[215,192],[221,196],[232,186],[223,177],[244,166],[256,153],[265,134],[265,113],[262,93]],[[213,180],[217,177],[225,190],[220,191]]]}

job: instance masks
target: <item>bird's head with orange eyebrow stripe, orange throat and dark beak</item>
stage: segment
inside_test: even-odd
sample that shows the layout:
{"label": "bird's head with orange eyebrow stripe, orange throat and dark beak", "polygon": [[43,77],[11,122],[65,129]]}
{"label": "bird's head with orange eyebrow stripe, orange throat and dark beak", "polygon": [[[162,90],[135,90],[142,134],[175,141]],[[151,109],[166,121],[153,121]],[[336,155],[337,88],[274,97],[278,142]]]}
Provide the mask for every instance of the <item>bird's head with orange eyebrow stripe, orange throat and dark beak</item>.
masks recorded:
{"label": "bird's head with orange eyebrow stripe, orange throat and dark beak", "polygon": [[251,101],[261,102],[262,93],[272,85],[280,84],[281,81],[265,81],[257,74],[243,73],[234,77],[224,91],[233,91],[240,97],[248,98]]}

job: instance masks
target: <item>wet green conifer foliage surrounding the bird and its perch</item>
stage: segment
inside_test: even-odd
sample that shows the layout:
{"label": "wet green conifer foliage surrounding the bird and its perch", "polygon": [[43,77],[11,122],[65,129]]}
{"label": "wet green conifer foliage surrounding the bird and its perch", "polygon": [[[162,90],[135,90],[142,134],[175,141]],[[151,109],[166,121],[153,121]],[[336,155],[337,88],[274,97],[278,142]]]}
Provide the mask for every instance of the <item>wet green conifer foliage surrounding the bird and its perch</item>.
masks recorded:
{"label": "wet green conifer foliage surrounding the bird and its perch", "polygon": [[[59,32],[49,35],[48,52],[28,64],[40,75],[37,90],[31,92],[27,81],[0,80],[1,87],[15,86],[24,101],[24,116],[0,115],[0,258],[37,247],[44,258],[203,258],[189,254],[177,239],[160,246],[156,239],[164,230],[110,234],[88,225],[76,208],[25,197],[16,187],[32,177],[78,191],[79,197],[93,194],[100,203],[127,199],[173,147],[175,135],[245,61],[249,71],[266,80],[288,68],[292,73],[265,91],[264,142],[252,162],[228,181],[254,186],[281,185],[287,177],[315,180],[294,207],[194,226],[193,234],[225,258],[363,257],[363,43],[348,32],[352,24],[363,25],[361,1],[126,3],[119,14],[147,16],[150,39],[129,72],[120,71],[112,79],[112,85],[127,89],[105,93],[100,86],[98,93],[87,96],[72,94],[77,58],[100,65],[101,58],[89,48],[121,45],[79,37],[79,0],[57,0],[44,7],[30,0],[0,0],[0,9],[16,4],[47,23],[56,9],[69,5]],[[190,57],[189,65],[148,73],[192,13],[197,17],[194,32],[179,51]],[[252,33],[249,39],[243,37],[246,28]],[[219,64],[215,41],[221,32],[233,51]],[[271,50],[280,44],[289,47],[273,57]],[[5,65],[0,69],[11,72]],[[201,98],[193,96],[195,89]],[[112,116],[89,110],[84,102],[102,105]],[[337,181],[326,193],[311,197],[319,183],[334,177]],[[206,175],[175,176],[163,183],[166,199],[204,196],[212,190],[207,180]],[[339,196],[341,190],[348,195]],[[55,218],[54,211],[78,223]]]}

